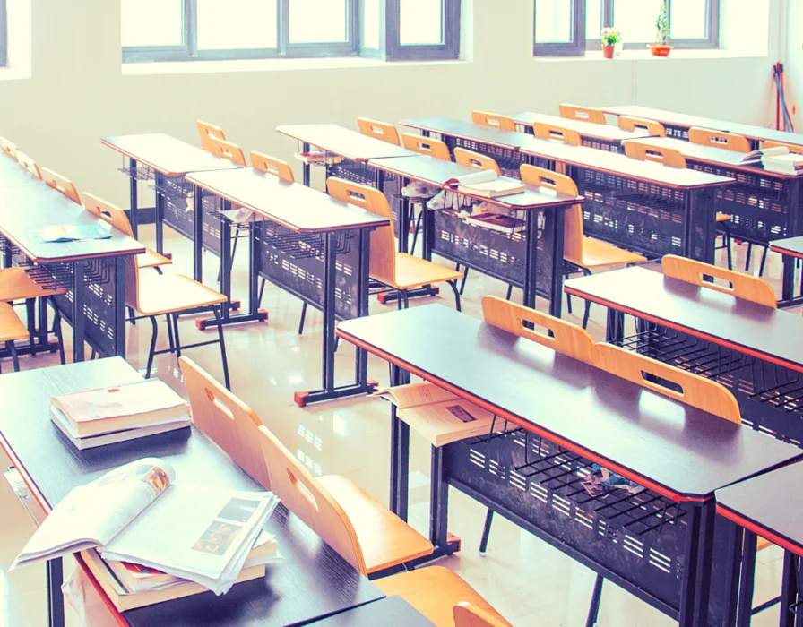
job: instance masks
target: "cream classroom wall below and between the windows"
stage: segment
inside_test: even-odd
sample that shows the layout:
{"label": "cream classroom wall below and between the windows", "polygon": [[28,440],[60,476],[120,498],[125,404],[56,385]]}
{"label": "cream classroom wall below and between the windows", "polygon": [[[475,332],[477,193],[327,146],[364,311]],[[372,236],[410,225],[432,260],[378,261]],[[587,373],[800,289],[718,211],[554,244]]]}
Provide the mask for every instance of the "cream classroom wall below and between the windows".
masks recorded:
{"label": "cream classroom wall below and between the windows", "polygon": [[[722,1],[725,11],[745,2]],[[296,145],[274,131],[277,125],[356,126],[358,115],[467,118],[472,108],[557,114],[560,102],[637,103],[767,125],[774,116],[769,77],[781,1],[749,0],[771,4],[767,24],[752,22],[759,40],[768,37],[768,56],[534,60],[531,0],[463,0],[471,63],[248,69],[257,63],[238,65],[237,72],[128,75],[121,70],[116,0],[36,0],[32,77],[3,80],[0,73],[0,134],[79,189],[127,206],[125,179],[114,170],[121,159],[99,137],[165,132],[197,143],[199,118],[222,126],[246,150],[284,159]]]}

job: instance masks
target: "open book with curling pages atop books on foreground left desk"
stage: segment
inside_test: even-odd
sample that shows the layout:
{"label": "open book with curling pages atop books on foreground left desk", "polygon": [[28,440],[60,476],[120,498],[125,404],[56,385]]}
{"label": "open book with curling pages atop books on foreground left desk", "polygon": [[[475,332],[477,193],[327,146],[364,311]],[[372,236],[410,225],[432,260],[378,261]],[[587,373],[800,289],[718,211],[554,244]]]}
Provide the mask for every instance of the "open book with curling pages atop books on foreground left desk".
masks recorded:
{"label": "open book with curling pages atop books on foreground left desk", "polygon": [[145,458],[67,494],[12,568],[91,548],[223,594],[231,588],[278,499],[176,482],[166,460]]}

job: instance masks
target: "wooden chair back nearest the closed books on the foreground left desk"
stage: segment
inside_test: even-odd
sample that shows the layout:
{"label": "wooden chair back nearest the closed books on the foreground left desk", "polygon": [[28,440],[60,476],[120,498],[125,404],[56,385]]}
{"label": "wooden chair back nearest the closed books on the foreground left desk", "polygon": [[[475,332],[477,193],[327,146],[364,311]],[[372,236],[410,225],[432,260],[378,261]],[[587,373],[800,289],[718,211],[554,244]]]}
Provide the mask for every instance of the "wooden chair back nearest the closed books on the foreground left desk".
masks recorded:
{"label": "wooden chair back nearest the closed books on the foreground left desk", "polygon": [[259,485],[270,490],[271,478],[259,433],[262,423],[254,411],[192,359],[182,356],[178,365],[186,383],[194,425]]}

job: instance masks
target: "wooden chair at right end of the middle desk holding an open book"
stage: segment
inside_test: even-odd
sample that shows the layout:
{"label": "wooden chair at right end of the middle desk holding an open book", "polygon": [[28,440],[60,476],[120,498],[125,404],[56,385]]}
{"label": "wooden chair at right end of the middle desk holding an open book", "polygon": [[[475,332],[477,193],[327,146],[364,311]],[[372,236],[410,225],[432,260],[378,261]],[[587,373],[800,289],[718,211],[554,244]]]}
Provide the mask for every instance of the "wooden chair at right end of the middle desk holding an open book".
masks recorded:
{"label": "wooden chair at right end of the middle desk holding an open book", "polygon": [[[542,167],[535,167],[523,164],[519,168],[522,174],[522,181],[530,185],[537,185],[556,193],[567,193],[576,196],[577,185],[566,175],[551,172]],[[637,253],[618,248],[615,245],[603,242],[601,239],[587,237],[583,235],[583,210],[579,204],[573,205],[566,210],[566,220],[564,224],[564,275],[582,272],[583,275],[591,274],[592,270],[608,268],[616,265],[631,265],[647,261]],[[569,314],[572,313],[571,298],[566,299]],[[588,326],[588,318],[591,313],[591,301],[585,302],[585,314],[583,314],[583,329]]]}

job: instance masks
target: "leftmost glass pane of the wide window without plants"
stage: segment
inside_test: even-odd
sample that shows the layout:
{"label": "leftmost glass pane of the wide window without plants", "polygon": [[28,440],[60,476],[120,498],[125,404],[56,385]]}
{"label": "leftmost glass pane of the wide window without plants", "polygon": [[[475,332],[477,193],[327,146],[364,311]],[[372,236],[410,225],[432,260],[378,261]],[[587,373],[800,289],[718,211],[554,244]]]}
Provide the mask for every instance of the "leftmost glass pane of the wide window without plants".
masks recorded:
{"label": "leftmost glass pane of the wide window without plants", "polygon": [[182,0],[123,0],[123,46],[181,46]]}

